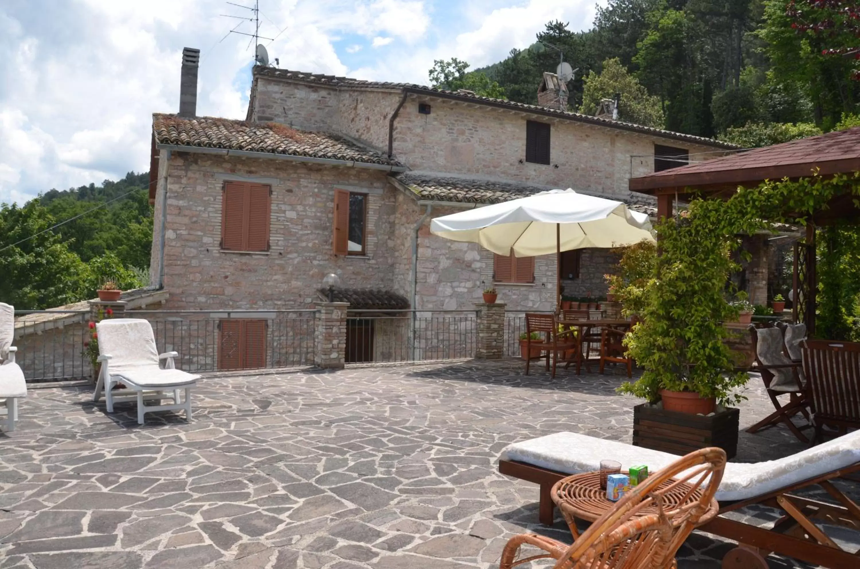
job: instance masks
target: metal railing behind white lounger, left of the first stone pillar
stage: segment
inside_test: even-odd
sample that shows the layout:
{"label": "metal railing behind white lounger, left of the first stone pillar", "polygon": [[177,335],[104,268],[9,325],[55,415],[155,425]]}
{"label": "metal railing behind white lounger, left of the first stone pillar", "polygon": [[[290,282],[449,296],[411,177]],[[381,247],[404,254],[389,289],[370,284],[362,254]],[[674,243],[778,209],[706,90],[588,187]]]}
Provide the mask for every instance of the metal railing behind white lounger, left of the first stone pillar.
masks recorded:
{"label": "metal railing behind white lounger, left of the first stone pillar", "polygon": [[[30,383],[92,378],[84,354],[89,311],[15,311],[15,360]],[[152,324],[159,353],[177,352],[187,372],[308,366],[314,361],[313,310],[126,312]]]}

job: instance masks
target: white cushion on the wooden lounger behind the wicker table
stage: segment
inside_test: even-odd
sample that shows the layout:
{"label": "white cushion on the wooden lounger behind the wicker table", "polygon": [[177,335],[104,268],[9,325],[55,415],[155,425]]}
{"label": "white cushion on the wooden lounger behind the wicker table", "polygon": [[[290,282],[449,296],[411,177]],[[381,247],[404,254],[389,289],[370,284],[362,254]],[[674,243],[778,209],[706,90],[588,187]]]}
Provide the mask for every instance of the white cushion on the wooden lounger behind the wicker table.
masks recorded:
{"label": "white cushion on the wooden lounger behind the wicker table", "polygon": [[[554,433],[507,445],[501,451],[501,458],[566,474],[598,470],[600,461],[605,459],[617,460],[624,469],[645,464],[651,472],[678,460],[677,456],[667,452],[577,433]],[[860,431],[777,460],[728,463],[716,499],[734,501],[755,498],[858,462]]]}

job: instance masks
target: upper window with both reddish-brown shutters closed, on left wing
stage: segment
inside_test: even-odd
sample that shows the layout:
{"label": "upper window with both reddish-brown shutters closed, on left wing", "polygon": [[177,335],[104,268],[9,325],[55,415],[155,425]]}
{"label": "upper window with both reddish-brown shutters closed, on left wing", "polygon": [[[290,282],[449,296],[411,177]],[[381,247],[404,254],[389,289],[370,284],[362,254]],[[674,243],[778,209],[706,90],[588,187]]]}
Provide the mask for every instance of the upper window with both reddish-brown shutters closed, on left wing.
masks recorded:
{"label": "upper window with both reddish-brown shutters closed, on left wing", "polygon": [[268,251],[272,187],[224,182],[221,199],[221,249]]}

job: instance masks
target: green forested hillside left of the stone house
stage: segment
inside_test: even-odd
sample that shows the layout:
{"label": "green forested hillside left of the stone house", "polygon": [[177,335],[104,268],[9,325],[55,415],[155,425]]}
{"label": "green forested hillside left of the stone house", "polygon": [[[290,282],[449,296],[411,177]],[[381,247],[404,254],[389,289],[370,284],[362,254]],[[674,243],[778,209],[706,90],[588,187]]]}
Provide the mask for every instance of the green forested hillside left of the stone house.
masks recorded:
{"label": "green forested hillside left of the stone house", "polygon": [[42,309],[95,298],[104,281],[124,289],[148,284],[148,185],[148,173],[128,173],[46,191],[21,207],[0,204],[0,301]]}

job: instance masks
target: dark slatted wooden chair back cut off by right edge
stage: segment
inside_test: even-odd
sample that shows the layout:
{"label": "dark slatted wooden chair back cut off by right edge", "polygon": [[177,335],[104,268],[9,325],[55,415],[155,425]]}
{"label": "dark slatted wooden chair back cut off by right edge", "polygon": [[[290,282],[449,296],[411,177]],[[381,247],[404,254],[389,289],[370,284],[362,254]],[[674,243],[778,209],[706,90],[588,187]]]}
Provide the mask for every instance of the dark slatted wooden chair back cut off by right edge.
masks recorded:
{"label": "dark slatted wooden chair back cut off by right edge", "polygon": [[860,343],[804,340],[801,349],[815,442],[821,442],[825,425],[840,433],[860,428]]}

